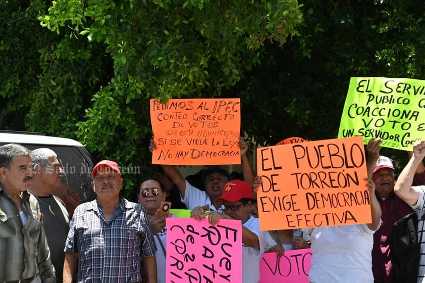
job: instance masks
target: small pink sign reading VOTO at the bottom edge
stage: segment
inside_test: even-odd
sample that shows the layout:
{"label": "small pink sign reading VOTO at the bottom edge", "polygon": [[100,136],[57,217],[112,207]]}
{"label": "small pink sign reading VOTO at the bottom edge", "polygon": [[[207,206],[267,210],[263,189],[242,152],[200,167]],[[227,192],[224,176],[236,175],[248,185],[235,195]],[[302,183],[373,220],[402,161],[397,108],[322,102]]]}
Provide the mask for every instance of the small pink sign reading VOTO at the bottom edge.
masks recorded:
{"label": "small pink sign reading VOTO at the bottom edge", "polygon": [[311,249],[285,251],[281,257],[276,253],[262,254],[258,283],[308,283],[311,255]]}

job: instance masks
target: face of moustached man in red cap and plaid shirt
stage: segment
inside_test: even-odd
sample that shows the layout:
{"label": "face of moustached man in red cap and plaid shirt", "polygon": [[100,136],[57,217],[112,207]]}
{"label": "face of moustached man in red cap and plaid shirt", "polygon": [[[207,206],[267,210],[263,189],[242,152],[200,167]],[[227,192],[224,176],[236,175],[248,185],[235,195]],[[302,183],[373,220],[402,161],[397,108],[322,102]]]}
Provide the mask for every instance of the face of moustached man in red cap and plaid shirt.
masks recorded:
{"label": "face of moustached man in red cap and plaid shirt", "polygon": [[109,166],[100,167],[93,178],[93,188],[97,198],[119,199],[123,179],[120,174]]}

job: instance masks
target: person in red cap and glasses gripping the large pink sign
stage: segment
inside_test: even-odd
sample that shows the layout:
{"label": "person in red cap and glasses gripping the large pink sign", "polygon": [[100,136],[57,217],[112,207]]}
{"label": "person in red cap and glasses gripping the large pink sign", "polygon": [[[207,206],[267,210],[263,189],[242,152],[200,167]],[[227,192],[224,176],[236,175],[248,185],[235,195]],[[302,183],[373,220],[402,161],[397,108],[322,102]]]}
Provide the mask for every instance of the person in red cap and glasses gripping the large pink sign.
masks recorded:
{"label": "person in red cap and glasses gripping the large pink sign", "polygon": [[205,212],[206,206],[195,207],[190,216],[201,220],[208,215],[210,224],[218,219],[235,219],[242,221],[242,282],[256,283],[260,278],[259,262],[264,252],[266,234],[260,231],[258,218],[249,214],[252,204],[252,188],[241,180],[232,180],[224,186],[223,195],[217,198],[222,202],[226,214],[217,211]]}

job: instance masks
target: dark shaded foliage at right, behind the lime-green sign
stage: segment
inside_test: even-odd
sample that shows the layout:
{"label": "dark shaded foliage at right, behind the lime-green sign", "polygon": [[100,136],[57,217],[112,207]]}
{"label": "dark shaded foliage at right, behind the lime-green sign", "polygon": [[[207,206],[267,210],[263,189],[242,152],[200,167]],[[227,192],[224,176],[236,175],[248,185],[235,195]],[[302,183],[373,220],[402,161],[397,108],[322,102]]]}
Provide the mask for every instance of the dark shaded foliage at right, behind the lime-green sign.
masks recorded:
{"label": "dark shaded foliage at right, behind the lime-green sign", "polygon": [[[421,1],[302,1],[300,36],[263,60],[240,85],[242,127],[260,144],[337,137],[350,77],[425,77]],[[254,119],[252,119],[254,117]],[[382,154],[406,164],[406,153]]]}

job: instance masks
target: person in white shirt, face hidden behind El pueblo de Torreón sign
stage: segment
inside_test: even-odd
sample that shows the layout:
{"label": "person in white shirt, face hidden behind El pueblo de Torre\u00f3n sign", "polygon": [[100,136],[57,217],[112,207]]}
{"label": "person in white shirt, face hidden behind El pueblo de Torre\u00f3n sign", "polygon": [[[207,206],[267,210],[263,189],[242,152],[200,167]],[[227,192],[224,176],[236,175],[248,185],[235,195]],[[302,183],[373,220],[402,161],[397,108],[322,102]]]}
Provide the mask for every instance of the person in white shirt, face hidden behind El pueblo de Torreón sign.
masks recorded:
{"label": "person in white shirt, face hidden behind El pueblo de Torre\u00f3n sign", "polygon": [[366,186],[370,193],[372,222],[343,226],[304,228],[310,235],[312,283],[373,282],[373,234],[381,225],[381,207],[371,178]]}

